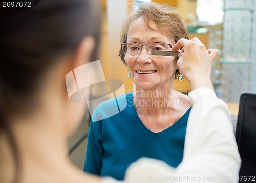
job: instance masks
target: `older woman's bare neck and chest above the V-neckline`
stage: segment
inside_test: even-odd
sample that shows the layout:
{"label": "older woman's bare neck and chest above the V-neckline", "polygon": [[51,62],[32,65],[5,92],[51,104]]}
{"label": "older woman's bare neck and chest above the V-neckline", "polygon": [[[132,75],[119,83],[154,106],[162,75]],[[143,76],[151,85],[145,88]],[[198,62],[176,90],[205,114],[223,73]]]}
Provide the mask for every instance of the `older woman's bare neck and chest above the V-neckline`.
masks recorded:
{"label": "older woman's bare neck and chest above the V-neckline", "polygon": [[173,125],[191,106],[187,96],[170,87],[155,90],[136,87],[133,102],[142,123],[155,133]]}

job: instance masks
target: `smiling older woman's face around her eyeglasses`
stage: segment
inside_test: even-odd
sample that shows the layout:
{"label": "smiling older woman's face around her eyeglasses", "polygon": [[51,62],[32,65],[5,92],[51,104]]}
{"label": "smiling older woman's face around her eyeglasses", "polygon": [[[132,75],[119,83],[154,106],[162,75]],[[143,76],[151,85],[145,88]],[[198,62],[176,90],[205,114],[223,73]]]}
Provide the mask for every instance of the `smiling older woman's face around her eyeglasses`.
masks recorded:
{"label": "smiling older woman's face around her eyeglasses", "polygon": [[[150,25],[154,30],[147,27],[143,17],[135,19],[128,30],[127,42],[175,44],[174,39],[170,39],[170,36],[161,31],[155,23],[151,22]],[[125,54],[124,60],[136,87],[157,89],[163,85],[170,86],[170,82],[174,82],[177,69],[175,57],[151,55],[146,46],[143,46],[139,55]],[[148,71],[152,73],[141,73]]]}

